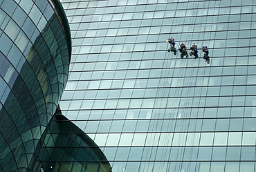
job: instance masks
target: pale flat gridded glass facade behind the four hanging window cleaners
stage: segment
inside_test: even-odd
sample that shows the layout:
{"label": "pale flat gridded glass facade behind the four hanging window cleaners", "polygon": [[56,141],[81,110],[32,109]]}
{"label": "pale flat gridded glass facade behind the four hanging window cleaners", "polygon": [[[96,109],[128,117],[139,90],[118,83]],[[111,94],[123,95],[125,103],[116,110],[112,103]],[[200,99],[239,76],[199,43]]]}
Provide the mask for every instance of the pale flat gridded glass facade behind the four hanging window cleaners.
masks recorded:
{"label": "pale flat gridded glass facade behind the four hanging window cleaners", "polygon": [[[73,42],[62,113],[113,172],[256,171],[256,1],[62,5]],[[170,37],[196,42],[199,58],[168,52]]]}

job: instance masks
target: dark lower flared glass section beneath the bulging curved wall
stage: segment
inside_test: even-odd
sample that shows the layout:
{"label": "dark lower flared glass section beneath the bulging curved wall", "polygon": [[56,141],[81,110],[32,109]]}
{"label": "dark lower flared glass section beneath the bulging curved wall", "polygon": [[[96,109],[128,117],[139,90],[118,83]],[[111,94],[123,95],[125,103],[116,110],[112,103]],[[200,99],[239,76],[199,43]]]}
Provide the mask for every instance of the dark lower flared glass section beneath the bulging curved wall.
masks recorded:
{"label": "dark lower flared glass section beneath the bulging curved wall", "polygon": [[[42,136],[37,163],[41,171],[111,172],[111,166],[98,145],[80,128],[57,111]],[[39,166],[34,164],[33,170]]]}

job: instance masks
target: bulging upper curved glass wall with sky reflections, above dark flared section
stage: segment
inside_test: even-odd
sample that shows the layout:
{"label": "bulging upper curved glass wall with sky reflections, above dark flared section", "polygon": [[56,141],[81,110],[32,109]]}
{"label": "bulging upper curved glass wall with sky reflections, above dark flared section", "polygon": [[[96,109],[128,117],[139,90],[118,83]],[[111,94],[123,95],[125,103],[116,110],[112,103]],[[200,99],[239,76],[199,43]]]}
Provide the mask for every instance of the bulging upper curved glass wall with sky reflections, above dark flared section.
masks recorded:
{"label": "bulging upper curved glass wall with sky reflections, above dark flared section", "polygon": [[69,30],[53,4],[0,1],[0,171],[31,171],[66,85]]}

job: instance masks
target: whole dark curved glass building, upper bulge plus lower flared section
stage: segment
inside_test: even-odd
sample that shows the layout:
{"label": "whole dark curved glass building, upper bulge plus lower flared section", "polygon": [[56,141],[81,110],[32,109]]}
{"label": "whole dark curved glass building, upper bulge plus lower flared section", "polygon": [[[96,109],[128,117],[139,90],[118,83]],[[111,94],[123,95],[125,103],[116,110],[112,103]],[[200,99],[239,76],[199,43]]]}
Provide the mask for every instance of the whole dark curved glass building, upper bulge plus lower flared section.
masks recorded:
{"label": "whole dark curved glass building, upper bulge plus lower flared section", "polygon": [[58,106],[70,59],[60,1],[0,1],[1,172],[111,171]]}

